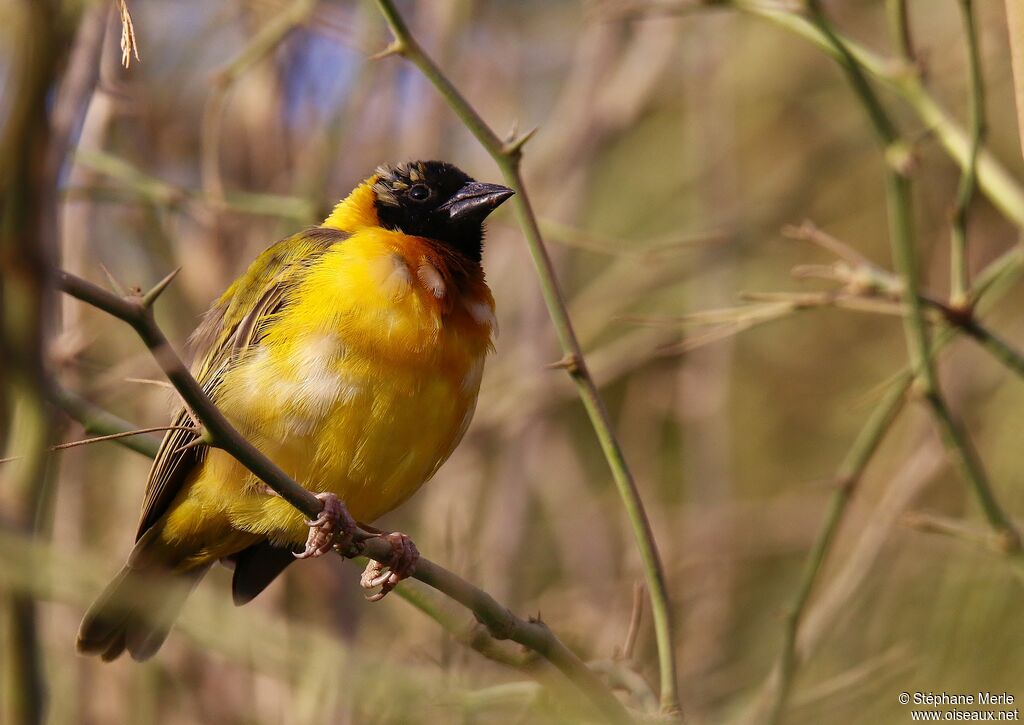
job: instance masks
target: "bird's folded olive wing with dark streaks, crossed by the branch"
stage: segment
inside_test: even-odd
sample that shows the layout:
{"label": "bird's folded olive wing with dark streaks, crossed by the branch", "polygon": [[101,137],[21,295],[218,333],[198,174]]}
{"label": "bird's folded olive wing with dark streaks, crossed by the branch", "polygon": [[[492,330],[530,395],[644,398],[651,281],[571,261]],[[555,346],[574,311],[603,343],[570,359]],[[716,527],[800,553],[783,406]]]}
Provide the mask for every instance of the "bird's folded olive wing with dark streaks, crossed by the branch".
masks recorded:
{"label": "bird's folded olive wing with dark streaks, crossed by the branch", "polygon": [[[214,401],[224,372],[263,338],[305,270],[347,237],[318,226],[279,242],[257,257],[210,308],[191,338],[193,374]],[[173,424],[187,426],[195,421],[182,408]],[[188,430],[172,430],[164,436],[150,469],[136,541],[164,515],[188,473],[203,461],[207,446],[197,443],[198,438]]]}

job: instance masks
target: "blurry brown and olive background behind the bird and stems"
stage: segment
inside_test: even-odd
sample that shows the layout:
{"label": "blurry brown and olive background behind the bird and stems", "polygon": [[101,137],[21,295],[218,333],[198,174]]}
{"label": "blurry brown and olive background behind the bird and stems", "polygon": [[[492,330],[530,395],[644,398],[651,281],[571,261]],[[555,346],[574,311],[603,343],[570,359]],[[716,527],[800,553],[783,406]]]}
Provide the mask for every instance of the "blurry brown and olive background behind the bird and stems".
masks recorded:
{"label": "blurry brown and olive background behind the bird and stems", "polygon": [[[738,314],[713,326],[675,318],[732,307],[741,292],[821,289],[790,275],[794,265],[831,261],[780,234],[804,218],[889,266],[883,167],[835,63],[797,35],[729,9],[624,18],[615,5],[401,7],[489,123],[540,126],[526,183],[666,562],[684,709],[694,722],[730,722],[778,652],[780,613],[836,468],[906,353],[889,315],[808,310],[749,330]],[[884,5],[828,3],[844,33],[889,54]],[[1004,9],[977,6],[988,147],[1022,177]],[[438,158],[498,180],[415,69],[368,59],[388,40],[372,3],[130,7],[140,61],[128,70],[110,5],[83,10],[71,68],[98,62],[99,81],[60,174],[59,251],[63,267],[99,283],[101,266],[143,288],[181,266],[158,308],[178,344],[249,260],[322,219],[377,164]],[[928,89],[963,121],[956,3],[910,8]],[[245,49],[286,9],[297,27],[249,62]],[[24,40],[9,35],[0,33],[8,48]],[[889,92],[883,99],[916,141],[918,248],[929,286],[944,294],[959,172],[918,116]],[[979,200],[972,267],[1017,238]],[[626,636],[638,558],[572,387],[546,368],[559,352],[509,211],[489,223],[485,267],[501,336],[475,421],[436,478],[381,525],[409,532],[425,555],[517,613],[542,612],[585,658],[607,658]],[[1013,290],[987,318],[1017,345],[1022,303]],[[127,328],[73,300],[61,314],[52,350],[61,383],[140,426],[163,424],[170,395],[131,380],[160,375]],[[1022,381],[968,342],[944,358],[942,379],[1000,499],[1020,512]],[[900,691],[1024,697],[1012,569],[980,547],[900,522],[921,510],[979,518],[933,430],[909,407],[868,469],[805,622],[811,656],[791,722],[904,722]],[[62,439],[82,437],[77,425],[62,429]],[[514,697],[474,694],[523,678],[397,597],[366,604],[358,569],[336,561],[291,567],[243,609],[231,607],[228,573],[217,570],[153,662],[77,657],[84,606],[130,548],[147,467],[113,443],[59,455],[48,526],[57,558],[43,569],[52,581],[33,585],[45,600],[51,722],[544,717]],[[25,579],[0,573],[0,586]],[[644,624],[635,658],[653,676]]]}

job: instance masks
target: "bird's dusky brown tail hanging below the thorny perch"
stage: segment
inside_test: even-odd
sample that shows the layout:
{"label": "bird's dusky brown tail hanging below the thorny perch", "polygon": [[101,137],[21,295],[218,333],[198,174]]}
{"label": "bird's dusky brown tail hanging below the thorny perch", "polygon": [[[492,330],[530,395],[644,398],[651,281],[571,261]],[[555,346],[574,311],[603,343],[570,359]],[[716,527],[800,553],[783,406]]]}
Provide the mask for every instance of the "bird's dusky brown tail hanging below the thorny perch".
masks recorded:
{"label": "bird's dusky brown tail hanging below the thorny perch", "polygon": [[127,649],[136,662],[152,657],[167,639],[188,593],[209,568],[206,564],[171,571],[139,565],[135,558],[133,553],[85,613],[76,643],[82,654],[111,662]]}

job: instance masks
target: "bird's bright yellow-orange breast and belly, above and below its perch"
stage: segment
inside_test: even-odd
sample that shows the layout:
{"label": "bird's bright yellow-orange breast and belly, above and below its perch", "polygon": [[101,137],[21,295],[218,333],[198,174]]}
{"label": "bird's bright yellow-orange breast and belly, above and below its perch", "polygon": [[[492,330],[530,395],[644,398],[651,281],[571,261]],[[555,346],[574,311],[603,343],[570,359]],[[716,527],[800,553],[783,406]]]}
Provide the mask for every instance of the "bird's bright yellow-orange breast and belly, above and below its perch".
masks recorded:
{"label": "bird's bright yellow-orange breast and belly, above and below its perch", "polygon": [[[482,278],[459,279],[444,261],[423,240],[360,230],[316,262],[220,386],[219,404],[261,450],[362,521],[430,478],[472,417],[494,302]],[[212,459],[221,478],[244,479],[233,525],[305,537],[297,512]]]}

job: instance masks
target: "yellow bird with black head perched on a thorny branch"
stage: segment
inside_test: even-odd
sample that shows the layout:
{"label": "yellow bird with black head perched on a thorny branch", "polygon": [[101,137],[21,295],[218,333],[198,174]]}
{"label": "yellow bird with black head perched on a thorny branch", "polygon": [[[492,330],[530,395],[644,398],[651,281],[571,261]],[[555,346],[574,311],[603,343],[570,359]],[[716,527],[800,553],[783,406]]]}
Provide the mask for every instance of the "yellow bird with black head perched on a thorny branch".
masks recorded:
{"label": "yellow bird with black head perched on a thorny branch", "polygon": [[[305,520],[207,445],[182,408],[151,468],[134,547],[82,621],[80,653],[152,657],[214,563],[233,567],[244,604],[434,475],[469,426],[494,350],[484,219],[512,195],[445,162],[383,164],[228,287],[191,336],[193,375],[324,511]],[[393,552],[360,580],[377,599],[419,554],[403,534],[371,530]],[[158,578],[180,586],[157,597]]]}

